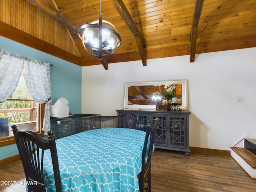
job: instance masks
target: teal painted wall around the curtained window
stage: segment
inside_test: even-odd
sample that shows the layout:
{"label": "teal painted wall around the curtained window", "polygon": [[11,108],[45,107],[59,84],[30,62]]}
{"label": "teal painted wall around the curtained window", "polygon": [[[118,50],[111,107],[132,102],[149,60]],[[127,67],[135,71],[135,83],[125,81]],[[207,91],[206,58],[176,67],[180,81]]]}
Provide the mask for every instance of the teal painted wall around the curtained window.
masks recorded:
{"label": "teal painted wall around the curtained window", "polygon": [[[60,97],[69,102],[69,112],[81,113],[82,67],[0,36],[0,49],[52,64],[52,104]],[[16,144],[0,147],[0,160],[18,154]]]}

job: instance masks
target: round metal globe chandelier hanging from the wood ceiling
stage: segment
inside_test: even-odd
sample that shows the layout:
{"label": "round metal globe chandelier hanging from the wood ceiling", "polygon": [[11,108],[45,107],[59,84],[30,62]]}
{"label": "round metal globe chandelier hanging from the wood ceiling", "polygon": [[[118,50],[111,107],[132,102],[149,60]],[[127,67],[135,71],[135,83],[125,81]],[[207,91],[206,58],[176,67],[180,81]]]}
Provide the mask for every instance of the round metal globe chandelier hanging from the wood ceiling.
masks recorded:
{"label": "round metal globe chandelier hanging from the wood ceiling", "polygon": [[78,29],[78,37],[82,40],[85,50],[99,60],[112,54],[122,41],[114,25],[102,20],[101,0],[99,20],[82,25]]}

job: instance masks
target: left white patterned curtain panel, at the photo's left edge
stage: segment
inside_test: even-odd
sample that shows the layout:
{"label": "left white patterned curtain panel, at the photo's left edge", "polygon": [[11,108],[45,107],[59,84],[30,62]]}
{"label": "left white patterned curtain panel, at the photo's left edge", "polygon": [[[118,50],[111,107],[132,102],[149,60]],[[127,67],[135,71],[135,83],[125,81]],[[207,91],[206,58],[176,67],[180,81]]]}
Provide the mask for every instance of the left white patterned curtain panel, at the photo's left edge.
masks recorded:
{"label": "left white patterned curtain panel, at the photo's left edge", "polygon": [[22,56],[0,50],[0,103],[8,99],[18,86],[23,62]]}

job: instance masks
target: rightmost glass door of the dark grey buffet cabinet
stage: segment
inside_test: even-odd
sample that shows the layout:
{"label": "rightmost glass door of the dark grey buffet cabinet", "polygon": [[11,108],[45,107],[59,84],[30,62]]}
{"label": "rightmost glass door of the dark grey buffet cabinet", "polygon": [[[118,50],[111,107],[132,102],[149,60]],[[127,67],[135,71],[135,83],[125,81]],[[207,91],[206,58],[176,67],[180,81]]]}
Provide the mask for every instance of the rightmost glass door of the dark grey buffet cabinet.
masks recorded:
{"label": "rightmost glass door of the dark grey buffet cabinet", "polygon": [[170,117],[169,147],[186,148],[185,117]]}

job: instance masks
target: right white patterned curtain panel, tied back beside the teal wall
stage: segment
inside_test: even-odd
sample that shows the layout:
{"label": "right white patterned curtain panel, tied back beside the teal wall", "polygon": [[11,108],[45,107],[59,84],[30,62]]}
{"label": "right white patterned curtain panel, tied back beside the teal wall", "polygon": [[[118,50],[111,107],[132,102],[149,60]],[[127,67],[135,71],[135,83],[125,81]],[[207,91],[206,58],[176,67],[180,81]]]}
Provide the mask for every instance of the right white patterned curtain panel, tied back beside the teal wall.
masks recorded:
{"label": "right white patterned curtain panel, tied back beside the teal wall", "polygon": [[43,130],[50,130],[51,84],[49,63],[27,58],[25,62],[26,86],[30,96],[44,106]]}

